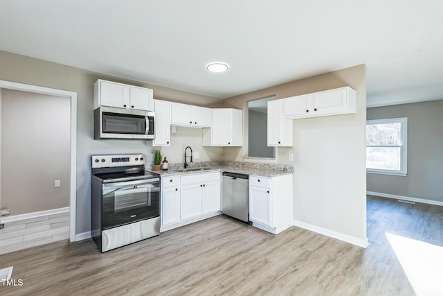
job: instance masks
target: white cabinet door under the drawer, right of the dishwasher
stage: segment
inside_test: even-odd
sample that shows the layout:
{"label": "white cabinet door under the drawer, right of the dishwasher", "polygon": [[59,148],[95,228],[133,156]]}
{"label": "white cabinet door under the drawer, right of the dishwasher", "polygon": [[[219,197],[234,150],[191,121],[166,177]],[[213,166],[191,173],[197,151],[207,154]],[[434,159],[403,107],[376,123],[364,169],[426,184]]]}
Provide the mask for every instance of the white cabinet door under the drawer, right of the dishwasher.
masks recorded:
{"label": "white cabinet door under the drawer, right of the dishwasher", "polygon": [[249,220],[273,227],[269,188],[249,186]]}

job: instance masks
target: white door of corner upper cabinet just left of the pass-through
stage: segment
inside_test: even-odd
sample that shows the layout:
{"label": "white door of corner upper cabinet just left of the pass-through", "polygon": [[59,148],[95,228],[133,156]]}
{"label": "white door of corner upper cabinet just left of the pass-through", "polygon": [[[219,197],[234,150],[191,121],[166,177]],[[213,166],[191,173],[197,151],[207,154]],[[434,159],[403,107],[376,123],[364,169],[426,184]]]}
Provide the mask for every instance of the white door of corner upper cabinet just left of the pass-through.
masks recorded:
{"label": "white door of corner upper cabinet just left of the pass-through", "polygon": [[211,128],[213,146],[230,146],[231,124],[230,110],[213,110],[213,125]]}

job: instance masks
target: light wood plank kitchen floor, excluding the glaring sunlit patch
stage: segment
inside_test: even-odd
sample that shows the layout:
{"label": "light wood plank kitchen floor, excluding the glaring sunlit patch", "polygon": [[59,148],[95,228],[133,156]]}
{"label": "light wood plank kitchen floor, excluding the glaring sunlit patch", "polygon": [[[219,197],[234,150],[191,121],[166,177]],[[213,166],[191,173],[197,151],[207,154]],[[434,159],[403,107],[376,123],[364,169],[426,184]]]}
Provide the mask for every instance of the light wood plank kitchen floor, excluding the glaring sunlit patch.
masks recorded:
{"label": "light wood plank kitchen floor, excluding the glaring sunlit patch", "polygon": [[101,254],[89,239],[0,256],[0,295],[414,295],[386,232],[443,245],[443,209],[368,198],[367,249],[223,216]]}

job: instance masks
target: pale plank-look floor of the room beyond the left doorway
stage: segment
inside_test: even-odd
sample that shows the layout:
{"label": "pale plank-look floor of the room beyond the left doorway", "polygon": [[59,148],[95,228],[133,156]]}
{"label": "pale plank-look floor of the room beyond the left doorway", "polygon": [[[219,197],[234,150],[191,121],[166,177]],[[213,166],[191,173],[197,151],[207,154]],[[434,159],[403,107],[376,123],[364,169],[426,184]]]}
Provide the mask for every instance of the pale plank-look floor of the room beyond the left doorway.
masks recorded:
{"label": "pale plank-look floor of the room beyond the left doorway", "polygon": [[5,223],[0,255],[69,239],[69,212]]}

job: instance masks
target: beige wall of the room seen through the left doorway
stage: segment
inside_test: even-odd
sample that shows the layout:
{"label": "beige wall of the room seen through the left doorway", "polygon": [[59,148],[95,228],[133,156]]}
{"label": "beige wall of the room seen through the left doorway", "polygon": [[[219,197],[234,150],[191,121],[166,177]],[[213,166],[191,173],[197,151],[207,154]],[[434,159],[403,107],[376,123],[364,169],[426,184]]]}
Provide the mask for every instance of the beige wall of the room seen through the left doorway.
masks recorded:
{"label": "beige wall of the room seen through the left doorway", "polygon": [[12,215],[69,207],[69,98],[1,93],[1,207]]}

